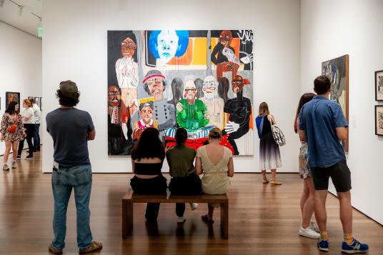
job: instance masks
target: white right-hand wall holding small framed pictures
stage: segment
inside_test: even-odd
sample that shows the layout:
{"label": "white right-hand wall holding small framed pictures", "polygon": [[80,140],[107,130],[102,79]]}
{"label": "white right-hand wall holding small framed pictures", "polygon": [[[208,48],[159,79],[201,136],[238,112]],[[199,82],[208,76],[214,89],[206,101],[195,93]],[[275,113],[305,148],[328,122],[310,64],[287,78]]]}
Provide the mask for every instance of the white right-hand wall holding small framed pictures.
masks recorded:
{"label": "white right-hand wall holding small framed pictures", "polygon": [[352,205],[383,224],[383,139],[374,134],[374,105],[379,104],[374,71],[383,69],[383,1],[302,0],[301,8],[301,92],[312,91],[322,61],[349,54]]}

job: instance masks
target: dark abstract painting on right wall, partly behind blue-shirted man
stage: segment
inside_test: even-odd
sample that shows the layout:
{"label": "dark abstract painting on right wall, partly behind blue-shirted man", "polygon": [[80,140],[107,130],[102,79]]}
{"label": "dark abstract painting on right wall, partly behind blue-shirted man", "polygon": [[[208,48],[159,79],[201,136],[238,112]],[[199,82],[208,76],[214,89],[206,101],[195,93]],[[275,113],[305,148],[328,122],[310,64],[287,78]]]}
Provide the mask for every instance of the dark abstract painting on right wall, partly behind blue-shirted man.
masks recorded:
{"label": "dark abstract painting on right wall, partly behind blue-shirted man", "polygon": [[[322,62],[322,75],[329,77],[332,92],[330,100],[342,107],[344,116],[349,121],[349,55]],[[342,141],[344,151],[349,151],[349,138]]]}

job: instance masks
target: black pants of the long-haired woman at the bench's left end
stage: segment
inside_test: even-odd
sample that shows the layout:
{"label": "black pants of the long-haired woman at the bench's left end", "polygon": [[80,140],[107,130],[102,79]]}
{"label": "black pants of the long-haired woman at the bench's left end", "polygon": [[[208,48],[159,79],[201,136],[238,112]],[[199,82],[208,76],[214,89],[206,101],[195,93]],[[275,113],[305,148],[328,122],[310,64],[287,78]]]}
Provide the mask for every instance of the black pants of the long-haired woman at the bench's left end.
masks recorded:
{"label": "black pants of the long-haired woman at the bench's left end", "polygon": [[[160,174],[151,179],[141,179],[134,176],[130,179],[130,186],[136,194],[161,194],[166,193],[166,178]],[[149,222],[156,221],[159,211],[159,203],[146,205],[145,218]]]}

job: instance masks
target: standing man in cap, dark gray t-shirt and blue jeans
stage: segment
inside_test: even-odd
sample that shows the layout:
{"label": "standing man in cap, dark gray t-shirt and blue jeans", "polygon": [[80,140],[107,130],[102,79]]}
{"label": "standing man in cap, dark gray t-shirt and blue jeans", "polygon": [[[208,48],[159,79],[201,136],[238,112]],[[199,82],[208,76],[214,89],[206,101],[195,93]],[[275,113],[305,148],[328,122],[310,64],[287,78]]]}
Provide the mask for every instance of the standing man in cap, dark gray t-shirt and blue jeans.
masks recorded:
{"label": "standing man in cap, dark gray t-shirt and blue jeans", "polygon": [[61,81],[56,94],[60,107],[46,114],[46,131],[54,142],[52,191],[54,196],[54,239],[49,251],[61,254],[65,246],[66,209],[74,189],[77,210],[77,245],[85,254],[102,248],[92,241],[89,226],[91,198],[91,164],[88,141],[96,136],[91,116],[74,108],[79,103],[79,91],[73,81]]}

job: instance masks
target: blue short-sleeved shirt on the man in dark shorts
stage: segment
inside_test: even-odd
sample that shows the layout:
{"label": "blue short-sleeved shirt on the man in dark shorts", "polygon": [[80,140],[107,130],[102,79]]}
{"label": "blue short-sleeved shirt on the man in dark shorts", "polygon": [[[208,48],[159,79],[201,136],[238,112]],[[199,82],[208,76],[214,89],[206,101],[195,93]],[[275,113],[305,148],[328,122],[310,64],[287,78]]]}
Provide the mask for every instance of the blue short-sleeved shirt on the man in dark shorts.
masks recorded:
{"label": "blue short-sleeved shirt on the man in dark shorts", "polygon": [[309,165],[326,168],[346,159],[335,128],[349,126],[339,104],[315,96],[301,109],[299,129],[309,144]]}

